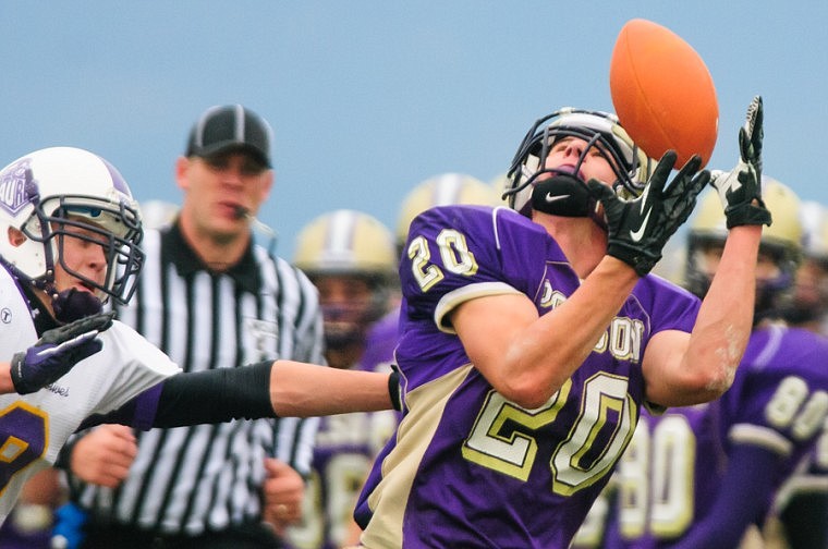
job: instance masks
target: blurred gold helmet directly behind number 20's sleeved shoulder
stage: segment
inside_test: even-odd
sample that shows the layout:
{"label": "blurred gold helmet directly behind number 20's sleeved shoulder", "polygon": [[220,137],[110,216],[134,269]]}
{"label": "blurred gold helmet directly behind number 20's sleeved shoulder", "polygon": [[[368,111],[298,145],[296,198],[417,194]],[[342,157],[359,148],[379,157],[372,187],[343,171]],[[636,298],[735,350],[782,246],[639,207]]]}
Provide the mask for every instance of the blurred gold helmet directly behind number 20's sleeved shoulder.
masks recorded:
{"label": "blurred gold helmet directly behind number 20's sleeved shoulder", "polygon": [[477,204],[498,206],[499,193],[477,178],[464,173],[442,173],[421,182],[405,195],[397,218],[397,245],[409,239],[409,225],[419,213],[436,206]]}

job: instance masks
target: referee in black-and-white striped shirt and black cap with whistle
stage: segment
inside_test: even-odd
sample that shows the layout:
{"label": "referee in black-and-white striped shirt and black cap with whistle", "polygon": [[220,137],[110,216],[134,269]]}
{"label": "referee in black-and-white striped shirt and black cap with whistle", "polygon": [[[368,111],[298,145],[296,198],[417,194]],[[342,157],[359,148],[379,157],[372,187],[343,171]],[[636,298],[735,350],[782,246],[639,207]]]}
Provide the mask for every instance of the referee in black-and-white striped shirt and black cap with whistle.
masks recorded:
{"label": "referee in black-and-white striped shirt and black cap with whistle", "polygon": [[[325,364],[314,286],[252,235],[273,182],[270,138],[268,123],[242,106],[204,112],[175,164],[181,211],[146,233],[141,283],[119,318],[185,371],[275,358]],[[86,434],[64,454],[71,499],[87,511],[82,547],[282,547],[277,533],[300,517],[317,425],[280,418]],[[276,528],[263,522],[265,502],[278,510],[268,513]]]}

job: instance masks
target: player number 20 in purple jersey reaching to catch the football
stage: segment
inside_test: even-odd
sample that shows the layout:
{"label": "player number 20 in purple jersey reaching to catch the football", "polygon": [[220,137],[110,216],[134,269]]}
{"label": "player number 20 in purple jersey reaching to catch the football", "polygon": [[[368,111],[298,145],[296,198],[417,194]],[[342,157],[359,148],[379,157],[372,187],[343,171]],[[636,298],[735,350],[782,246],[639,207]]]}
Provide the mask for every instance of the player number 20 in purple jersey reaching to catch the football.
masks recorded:
{"label": "player number 20 in purple jersey reaching to catch the football", "polygon": [[770,222],[760,119],[757,98],[741,160],[717,180],[731,229],[702,303],[648,272],[709,174],[696,157],[667,185],[675,154],[650,171],[608,113],[533,125],[511,209],[414,219],[400,267],[403,418],[360,498],[363,546],[568,547],[642,405],[727,390]]}

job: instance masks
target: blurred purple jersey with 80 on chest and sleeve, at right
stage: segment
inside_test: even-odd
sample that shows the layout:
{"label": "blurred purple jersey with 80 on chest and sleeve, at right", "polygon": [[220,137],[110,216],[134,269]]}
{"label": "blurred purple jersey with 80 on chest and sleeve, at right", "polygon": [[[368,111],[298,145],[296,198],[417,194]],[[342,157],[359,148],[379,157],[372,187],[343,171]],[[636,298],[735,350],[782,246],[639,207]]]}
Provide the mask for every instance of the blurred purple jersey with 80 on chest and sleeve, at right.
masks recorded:
{"label": "blurred purple jersey with 80 on chest and sleeve, at right", "polygon": [[[756,480],[776,492],[823,434],[826,361],[828,342],[806,330],[759,329],[751,335],[733,386],[719,400],[673,408],[660,418],[643,415],[613,478],[618,492],[609,507],[617,514],[604,547],[684,547],[689,539],[710,536],[707,521],[727,520],[711,510],[727,486],[729,459],[739,446],[778,454],[776,467]],[[763,502],[757,518],[770,504]],[[741,538],[746,525],[724,522],[738,529],[732,537]]]}

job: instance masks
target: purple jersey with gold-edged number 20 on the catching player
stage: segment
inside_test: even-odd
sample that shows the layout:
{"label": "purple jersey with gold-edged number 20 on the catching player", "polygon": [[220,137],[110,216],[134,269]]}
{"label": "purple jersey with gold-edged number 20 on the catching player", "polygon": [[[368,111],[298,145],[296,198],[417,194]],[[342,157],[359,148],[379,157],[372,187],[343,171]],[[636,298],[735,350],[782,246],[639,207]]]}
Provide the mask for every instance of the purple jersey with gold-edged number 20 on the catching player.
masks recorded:
{"label": "purple jersey with gold-edged number 20 on the catching player", "polygon": [[406,410],[360,498],[363,545],[567,547],[632,437],[647,342],[689,332],[698,300],[643,278],[572,378],[525,410],[474,368],[447,319],[487,295],[522,293],[541,315],[561,304],[580,280],[558,244],[512,210],[446,206],[412,222],[405,249]]}

